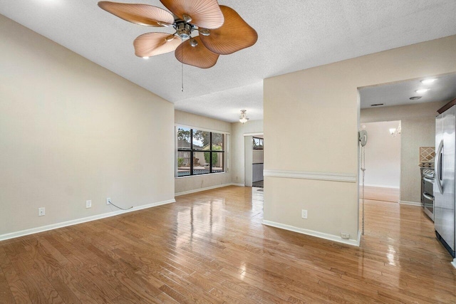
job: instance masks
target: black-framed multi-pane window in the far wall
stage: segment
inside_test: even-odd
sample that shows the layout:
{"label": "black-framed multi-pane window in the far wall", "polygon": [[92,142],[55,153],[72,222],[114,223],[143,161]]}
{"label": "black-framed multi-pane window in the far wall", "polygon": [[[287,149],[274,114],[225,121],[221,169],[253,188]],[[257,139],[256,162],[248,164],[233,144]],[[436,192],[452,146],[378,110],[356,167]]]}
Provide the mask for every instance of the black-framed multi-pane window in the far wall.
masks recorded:
{"label": "black-framed multi-pane window in the far wall", "polygon": [[224,172],[225,135],[177,127],[177,177]]}

